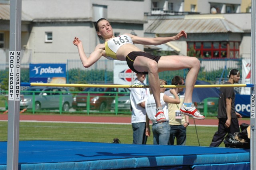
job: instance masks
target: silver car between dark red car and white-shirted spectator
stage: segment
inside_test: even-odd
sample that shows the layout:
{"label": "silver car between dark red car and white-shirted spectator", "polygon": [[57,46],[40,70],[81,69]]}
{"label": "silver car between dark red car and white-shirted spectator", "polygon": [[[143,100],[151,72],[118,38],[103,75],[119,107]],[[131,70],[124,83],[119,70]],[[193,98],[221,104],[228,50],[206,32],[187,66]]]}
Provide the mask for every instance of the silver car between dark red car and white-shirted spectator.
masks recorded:
{"label": "silver car between dark red car and white-shirted spectator", "polygon": [[[111,110],[115,110],[116,107],[116,99],[114,99],[111,103]],[[130,110],[131,109],[131,101],[130,94],[118,97],[118,110]]]}

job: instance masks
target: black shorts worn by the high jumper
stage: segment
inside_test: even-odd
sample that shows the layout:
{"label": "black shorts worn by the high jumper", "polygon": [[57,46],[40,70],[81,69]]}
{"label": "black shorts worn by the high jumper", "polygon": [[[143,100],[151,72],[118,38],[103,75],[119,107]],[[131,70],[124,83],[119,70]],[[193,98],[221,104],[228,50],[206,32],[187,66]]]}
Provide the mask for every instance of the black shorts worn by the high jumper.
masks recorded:
{"label": "black shorts worn by the high jumper", "polygon": [[[143,57],[147,57],[147,58],[153,59],[157,63],[158,63],[158,60],[161,57],[161,56],[152,55],[150,53],[146,53],[146,52],[143,52],[143,51],[132,51],[132,52],[128,53],[128,55],[126,56],[126,63],[128,65],[128,67],[132,71],[134,71],[135,73],[141,73],[141,72],[136,71],[136,69],[134,69],[134,67],[133,67],[133,62],[134,62],[134,60],[135,60],[135,58],[137,56],[143,56]],[[148,74],[148,72],[144,71],[144,72],[142,72],[142,74]]]}

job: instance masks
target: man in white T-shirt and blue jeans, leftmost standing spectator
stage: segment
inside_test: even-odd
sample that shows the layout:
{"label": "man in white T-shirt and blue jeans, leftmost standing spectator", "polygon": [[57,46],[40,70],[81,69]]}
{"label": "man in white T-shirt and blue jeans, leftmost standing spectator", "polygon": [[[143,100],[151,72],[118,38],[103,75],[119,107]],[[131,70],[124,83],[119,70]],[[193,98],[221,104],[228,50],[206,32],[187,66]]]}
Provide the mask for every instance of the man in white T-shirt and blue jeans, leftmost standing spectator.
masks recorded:
{"label": "man in white T-shirt and blue jeans, leftmost standing spectator", "polygon": [[[146,85],[144,80],[146,74],[136,73],[137,80],[134,85]],[[146,110],[145,101],[150,95],[148,88],[132,88],[130,92],[130,101],[132,106],[132,144],[146,144]]]}

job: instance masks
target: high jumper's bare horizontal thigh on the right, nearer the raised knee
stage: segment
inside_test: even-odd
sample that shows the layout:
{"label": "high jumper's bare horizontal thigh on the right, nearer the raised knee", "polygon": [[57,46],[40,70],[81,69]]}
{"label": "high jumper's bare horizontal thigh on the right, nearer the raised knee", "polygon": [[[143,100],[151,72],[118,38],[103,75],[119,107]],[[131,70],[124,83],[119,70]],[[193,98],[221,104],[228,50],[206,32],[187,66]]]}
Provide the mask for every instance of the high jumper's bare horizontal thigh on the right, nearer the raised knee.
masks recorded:
{"label": "high jumper's bare horizontal thigh on the right, nearer the raised knee", "polygon": [[179,70],[191,68],[198,59],[180,55],[162,56],[158,61],[158,71]]}

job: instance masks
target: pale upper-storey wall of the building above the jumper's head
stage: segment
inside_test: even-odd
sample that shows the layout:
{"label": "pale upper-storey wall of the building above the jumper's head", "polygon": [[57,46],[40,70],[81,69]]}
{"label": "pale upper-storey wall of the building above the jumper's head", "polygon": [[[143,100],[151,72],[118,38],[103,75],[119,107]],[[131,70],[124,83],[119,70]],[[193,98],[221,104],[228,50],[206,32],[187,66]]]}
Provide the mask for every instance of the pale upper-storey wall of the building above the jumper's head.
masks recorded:
{"label": "pale upper-storey wall of the building above the jumper's head", "polygon": [[107,6],[108,19],[144,19],[142,0],[25,0],[22,10],[34,19],[92,18],[92,4]]}

